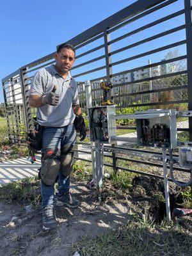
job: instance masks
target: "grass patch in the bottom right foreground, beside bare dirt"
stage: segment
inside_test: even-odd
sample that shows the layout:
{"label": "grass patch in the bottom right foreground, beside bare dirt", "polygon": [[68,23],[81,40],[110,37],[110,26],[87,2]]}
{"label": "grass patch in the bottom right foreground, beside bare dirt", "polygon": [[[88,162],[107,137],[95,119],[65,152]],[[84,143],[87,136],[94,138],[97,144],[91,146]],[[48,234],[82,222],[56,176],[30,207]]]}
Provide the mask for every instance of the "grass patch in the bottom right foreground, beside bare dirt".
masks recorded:
{"label": "grass patch in the bottom right foreground, beside bare dirt", "polygon": [[191,236],[177,225],[130,220],[127,225],[108,229],[100,236],[81,237],[73,249],[82,256],[184,256],[190,254],[190,246]]}

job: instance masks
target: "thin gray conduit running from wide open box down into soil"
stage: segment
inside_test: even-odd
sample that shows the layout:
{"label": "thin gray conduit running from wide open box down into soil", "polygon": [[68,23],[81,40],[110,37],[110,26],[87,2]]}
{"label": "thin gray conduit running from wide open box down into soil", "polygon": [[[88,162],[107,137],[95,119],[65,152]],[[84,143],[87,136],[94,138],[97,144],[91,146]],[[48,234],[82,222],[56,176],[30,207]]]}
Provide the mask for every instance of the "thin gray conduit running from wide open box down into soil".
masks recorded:
{"label": "thin gray conduit running from wide open box down into soil", "polygon": [[166,148],[162,147],[162,156],[163,156],[163,177],[164,177],[164,197],[166,204],[166,220],[171,220],[170,212],[170,196],[169,196],[169,185],[168,185],[168,172],[166,166]]}

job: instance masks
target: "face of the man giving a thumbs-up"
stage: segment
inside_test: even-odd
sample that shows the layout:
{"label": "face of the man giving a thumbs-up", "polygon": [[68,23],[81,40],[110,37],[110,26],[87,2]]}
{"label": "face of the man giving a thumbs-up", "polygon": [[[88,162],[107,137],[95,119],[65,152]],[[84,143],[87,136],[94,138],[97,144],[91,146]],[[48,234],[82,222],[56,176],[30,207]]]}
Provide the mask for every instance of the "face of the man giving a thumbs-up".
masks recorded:
{"label": "face of the man giving a thumbs-up", "polygon": [[55,54],[56,67],[60,70],[61,74],[66,74],[75,61],[75,53],[72,49],[63,48],[59,53]]}

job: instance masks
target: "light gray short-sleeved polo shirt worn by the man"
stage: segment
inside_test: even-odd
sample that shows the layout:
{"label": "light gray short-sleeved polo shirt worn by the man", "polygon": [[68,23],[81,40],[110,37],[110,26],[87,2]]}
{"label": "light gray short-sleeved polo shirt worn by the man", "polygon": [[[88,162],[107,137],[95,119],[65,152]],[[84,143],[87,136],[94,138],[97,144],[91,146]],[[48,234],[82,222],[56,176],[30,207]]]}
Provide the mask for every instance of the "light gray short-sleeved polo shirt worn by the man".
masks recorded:
{"label": "light gray short-sleeved polo shirt worn by the man", "polygon": [[46,104],[38,108],[37,118],[42,126],[63,127],[74,122],[72,105],[79,104],[76,81],[70,76],[64,79],[55,69],[55,65],[39,70],[31,82],[30,95],[45,95],[52,91],[53,85],[57,86],[56,93],[60,95],[59,104],[51,106]]}

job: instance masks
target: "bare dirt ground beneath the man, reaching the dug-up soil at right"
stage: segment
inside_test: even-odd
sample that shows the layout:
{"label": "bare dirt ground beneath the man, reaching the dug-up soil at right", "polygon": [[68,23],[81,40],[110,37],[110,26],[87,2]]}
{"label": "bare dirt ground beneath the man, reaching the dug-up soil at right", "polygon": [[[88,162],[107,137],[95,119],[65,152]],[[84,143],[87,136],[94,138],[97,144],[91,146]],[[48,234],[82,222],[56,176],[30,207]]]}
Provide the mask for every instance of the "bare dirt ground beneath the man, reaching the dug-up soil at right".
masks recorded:
{"label": "bare dirt ground beneath the man, reaching the dug-up soil at right", "polygon": [[[72,244],[81,236],[102,234],[107,228],[126,223],[132,214],[138,214],[141,218],[145,216],[149,220],[154,218],[156,222],[163,220],[166,214],[165,205],[159,201],[164,194],[163,180],[135,177],[129,193],[124,193],[106,182],[102,189],[101,205],[97,201],[95,189],[88,189],[85,185],[84,182],[72,182],[71,192],[81,200],[81,206],[77,209],[56,207],[56,217],[60,225],[56,230],[47,233],[42,232],[40,207],[26,214],[26,210],[20,205],[1,202],[0,256],[72,256]],[[182,204],[179,193],[179,187],[170,185],[171,209]],[[19,221],[15,221],[14,225],[11,220],[16,216]],[[191,220],[192,218],[187,220],[188,227],[189,223],[192,224]]]}

